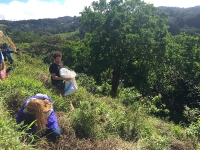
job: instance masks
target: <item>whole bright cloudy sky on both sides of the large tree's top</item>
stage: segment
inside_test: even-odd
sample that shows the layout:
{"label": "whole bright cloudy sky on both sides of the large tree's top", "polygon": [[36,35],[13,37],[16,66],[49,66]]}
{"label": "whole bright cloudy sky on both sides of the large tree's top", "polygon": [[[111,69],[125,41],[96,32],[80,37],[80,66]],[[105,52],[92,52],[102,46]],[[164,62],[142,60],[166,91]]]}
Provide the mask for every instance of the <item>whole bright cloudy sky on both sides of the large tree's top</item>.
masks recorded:
{"label": "whole bright cloudy sky on both sides of the large tree's top", "polygon": [[[0,0],[0,20],[28,20],[79,16],[85,6],[97,0]],[[144,0],[154,6],[193,7],[200,0]],[[107,0],[108,2],[108,0]]]}

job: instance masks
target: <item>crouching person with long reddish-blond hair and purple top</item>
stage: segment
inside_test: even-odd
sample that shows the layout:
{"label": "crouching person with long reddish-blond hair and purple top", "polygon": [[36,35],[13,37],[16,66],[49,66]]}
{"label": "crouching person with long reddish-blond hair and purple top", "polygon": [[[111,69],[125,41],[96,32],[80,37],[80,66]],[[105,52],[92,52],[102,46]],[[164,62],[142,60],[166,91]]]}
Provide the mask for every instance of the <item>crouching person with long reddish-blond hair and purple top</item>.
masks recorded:
{"label": "crouching person with long reddish-blond hair and purple top", "polygon": [[17,113],[17,124],[24,121],[30,126],[27,133],[41,133],[41,137],[58,139],[61,131],[53,109],[52,100],[45,94],[36,94],[28,98]]}

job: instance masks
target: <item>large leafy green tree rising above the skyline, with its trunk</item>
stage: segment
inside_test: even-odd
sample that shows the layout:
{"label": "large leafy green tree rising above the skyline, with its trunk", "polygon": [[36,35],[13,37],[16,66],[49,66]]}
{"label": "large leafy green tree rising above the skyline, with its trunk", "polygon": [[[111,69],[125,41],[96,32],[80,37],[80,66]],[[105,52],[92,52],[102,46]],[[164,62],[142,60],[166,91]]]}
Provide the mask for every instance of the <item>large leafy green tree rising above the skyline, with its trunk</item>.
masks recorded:
{"label": "large leafy green tree rising above the skyline, with its trunk", "polygon": [[103,72],[112,70],[108,78],[113,97],[120,81],[138,86],[133,72],[142,72],[147,78],[155,62],[165,54],[167,16],[159,17],[153,5],[140,0],[100,0],[93,2],[92,8],[86,7],[81,15],[80,23],[88,32],[91,48],[90,73],[99,82]]}

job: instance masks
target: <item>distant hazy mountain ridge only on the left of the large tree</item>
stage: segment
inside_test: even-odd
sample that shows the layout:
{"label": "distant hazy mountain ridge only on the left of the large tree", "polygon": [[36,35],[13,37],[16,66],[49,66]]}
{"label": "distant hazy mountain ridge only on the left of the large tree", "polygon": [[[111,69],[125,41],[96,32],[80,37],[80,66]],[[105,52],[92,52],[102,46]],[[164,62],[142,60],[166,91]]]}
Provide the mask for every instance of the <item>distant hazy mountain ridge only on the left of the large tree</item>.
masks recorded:
{"label": "distant hazy mountain ridge only on the left of the large tree", "polygon": [[79,27],[78,17],[56,19],[31,19],[20,21],[0,20],[0,30],[6,32],[33,32],[39,35],[59,34],[74,31]]}

